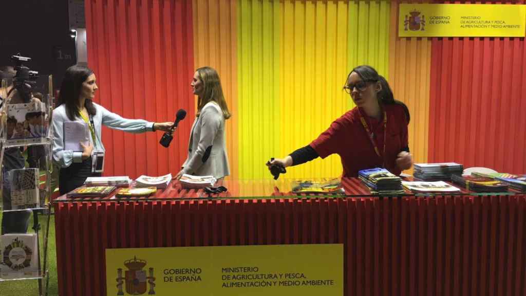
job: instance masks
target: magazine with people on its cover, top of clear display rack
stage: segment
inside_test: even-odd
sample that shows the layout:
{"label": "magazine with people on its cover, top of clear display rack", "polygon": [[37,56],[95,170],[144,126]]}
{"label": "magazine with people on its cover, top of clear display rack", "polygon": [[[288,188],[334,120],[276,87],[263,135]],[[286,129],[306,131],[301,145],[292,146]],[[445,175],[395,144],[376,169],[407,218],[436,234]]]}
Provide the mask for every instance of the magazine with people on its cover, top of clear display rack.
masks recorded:
{"label": "magazine with people on its cover, top of clear display rack", "polygon": [[8,104],[6,145],[43,143],[48,130],[45,110],[42,102]]}

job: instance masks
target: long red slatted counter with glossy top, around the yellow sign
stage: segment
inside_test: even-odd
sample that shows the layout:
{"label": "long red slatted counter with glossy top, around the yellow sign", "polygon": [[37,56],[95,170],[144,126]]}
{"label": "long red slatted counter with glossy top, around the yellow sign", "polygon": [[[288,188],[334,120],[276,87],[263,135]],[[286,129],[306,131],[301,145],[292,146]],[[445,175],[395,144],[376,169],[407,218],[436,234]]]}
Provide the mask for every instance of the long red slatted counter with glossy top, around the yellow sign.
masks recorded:
{"label": "long red slatted counter with glossy top, around the yellow sign", "polygon": [[[287,196],[287,180],[228,193],[55,200],[60,295],[105,295],[106,248],[343,243],[345,295],[526,294],[526,196]],[[237,198],[236,196],[257,196]]]}

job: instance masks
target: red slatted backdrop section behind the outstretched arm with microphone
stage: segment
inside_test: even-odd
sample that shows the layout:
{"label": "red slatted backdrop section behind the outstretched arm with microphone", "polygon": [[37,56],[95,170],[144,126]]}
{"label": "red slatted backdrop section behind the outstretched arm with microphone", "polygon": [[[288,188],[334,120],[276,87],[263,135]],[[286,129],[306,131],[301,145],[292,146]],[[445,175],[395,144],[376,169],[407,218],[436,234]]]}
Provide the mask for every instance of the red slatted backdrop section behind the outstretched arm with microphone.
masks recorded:
{"label": "red slatted backdrop section behind the outstretched arm with microphone", "polygon": [[190,119],[181,122],[169,149],[159,146],[161,133],[104,128],[105,174],[177,173],[195,114],[188,85],[194,71],[191,2],[90,0],[85,5],[88,65],[100,87],[95,101],[127,118],[171,121],[178,108],[185,108]]}

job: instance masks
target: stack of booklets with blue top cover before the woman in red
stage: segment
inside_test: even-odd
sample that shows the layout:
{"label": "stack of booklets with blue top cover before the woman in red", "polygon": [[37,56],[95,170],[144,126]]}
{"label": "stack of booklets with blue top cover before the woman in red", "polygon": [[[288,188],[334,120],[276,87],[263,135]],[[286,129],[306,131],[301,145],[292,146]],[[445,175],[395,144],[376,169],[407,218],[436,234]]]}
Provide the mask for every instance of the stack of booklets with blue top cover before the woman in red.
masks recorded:
{"label": "stack of booklets with blue top cover before the woman in red", "polygon": [[361,170],[358,178],[367,185],[372,194],[403,194],[402,179],[386,169]]}

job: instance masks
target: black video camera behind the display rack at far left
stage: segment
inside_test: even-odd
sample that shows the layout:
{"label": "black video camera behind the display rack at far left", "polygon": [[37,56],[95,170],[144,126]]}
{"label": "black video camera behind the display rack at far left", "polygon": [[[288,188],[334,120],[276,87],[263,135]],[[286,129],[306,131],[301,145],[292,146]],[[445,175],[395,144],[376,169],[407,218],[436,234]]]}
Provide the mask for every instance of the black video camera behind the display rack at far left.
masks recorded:
{"label": "black video camera behind the display rack at far left", "polygon": [[31,57],[21,56],[20,53],[18,53],[17,55],[12,55],[11,60],[15,62],[14,69],[16,74],[15,77],[13,77],[14,87],[9,91],[7,97],[9,97],[9,94],[11,94],[13,90],[17,90],[23,102],[29,103],[29,101],[31,101],[33,87],[36,85],[38,72],[29,70],[25,65],[31,61]]}

